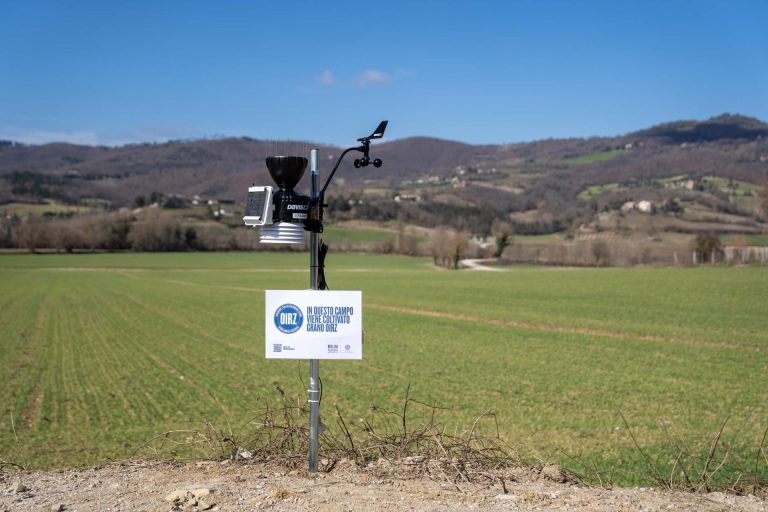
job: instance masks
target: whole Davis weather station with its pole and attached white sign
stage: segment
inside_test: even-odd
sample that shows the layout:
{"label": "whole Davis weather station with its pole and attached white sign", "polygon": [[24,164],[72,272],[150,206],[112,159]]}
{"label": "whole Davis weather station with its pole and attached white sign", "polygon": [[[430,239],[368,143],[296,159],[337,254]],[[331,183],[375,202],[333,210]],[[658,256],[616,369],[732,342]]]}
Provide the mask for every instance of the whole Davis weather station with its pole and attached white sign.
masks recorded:
{"label": "whole Davis weather station with its pole and attached white sign", "polygon": [[[310,151],[309,161],[302,156],[269,156],[269,175],[277,185],[248,189],[243,222],[261,228],[260,243],[303,244],[309,232],[309,290],[265,291],[265,356],[267,359],[309,359],[309,471],[317,472],[320,423],[320,359],[362,359],[362,292],[328,291],[325,281],[325,256],[328,246],[319,238],[323,232],[325,192],[344,157],[362,153],[354,160],[356,169],[382,161],[371,159],[371,141],[384,136],[387,121],[359,145],[345,149],[319,188],[319,150]],[[310,166],[310,195],[295,188]]]}

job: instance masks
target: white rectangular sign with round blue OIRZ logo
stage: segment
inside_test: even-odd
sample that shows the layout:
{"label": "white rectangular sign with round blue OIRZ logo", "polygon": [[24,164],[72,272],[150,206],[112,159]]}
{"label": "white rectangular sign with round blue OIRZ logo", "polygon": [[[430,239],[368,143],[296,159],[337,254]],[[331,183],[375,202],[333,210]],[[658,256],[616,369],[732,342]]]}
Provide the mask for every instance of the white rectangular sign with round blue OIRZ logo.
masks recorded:
{"label": "white rectangular sign with round blue OIRZ logo", "polygon": [[363,294],[267,290],[267,359],[362,359]]}

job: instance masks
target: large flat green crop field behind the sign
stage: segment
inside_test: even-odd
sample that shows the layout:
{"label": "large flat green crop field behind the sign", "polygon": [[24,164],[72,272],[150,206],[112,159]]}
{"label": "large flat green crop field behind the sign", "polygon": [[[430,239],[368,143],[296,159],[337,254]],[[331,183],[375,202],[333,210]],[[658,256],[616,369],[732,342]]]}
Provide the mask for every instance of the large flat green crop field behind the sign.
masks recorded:
{"label": "large flat green crop field behind the sign", "polygon": [[[303,399],[306,362],[264,359],[263,290],[306,289],[307,259],[0,256],[0,462],[125,458],[203,420],[247,429],[275,385]],[[330,428],[333,404],[362,418],[400,407],[410,385],[451,429],[492,410],[526,459],[594,464],[624,484],[648,470],[619,412],[664,467],[662,423],[696,450],[728,419],[729,464],[753,471],[768,428],[768,268],[430,263],[328,256],[332,289],[363,290],[365,326],[363,361],[321,364]]]}

